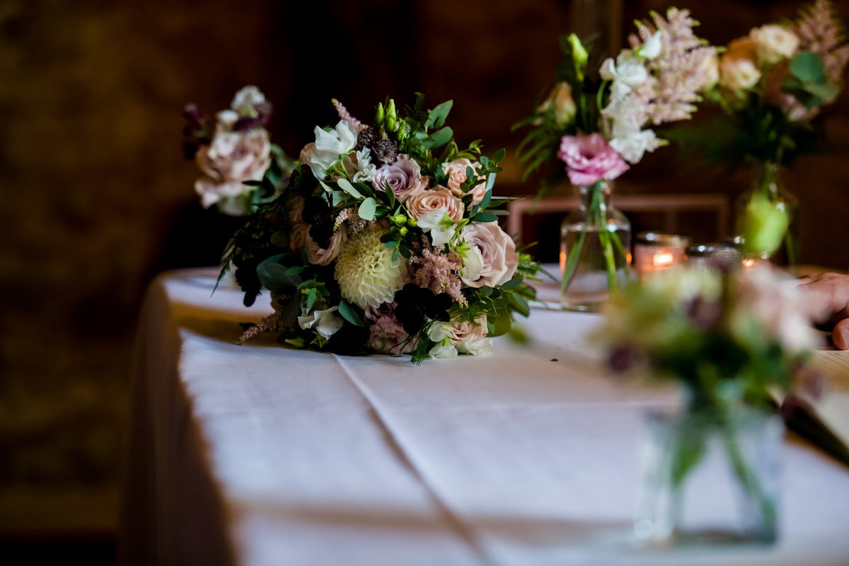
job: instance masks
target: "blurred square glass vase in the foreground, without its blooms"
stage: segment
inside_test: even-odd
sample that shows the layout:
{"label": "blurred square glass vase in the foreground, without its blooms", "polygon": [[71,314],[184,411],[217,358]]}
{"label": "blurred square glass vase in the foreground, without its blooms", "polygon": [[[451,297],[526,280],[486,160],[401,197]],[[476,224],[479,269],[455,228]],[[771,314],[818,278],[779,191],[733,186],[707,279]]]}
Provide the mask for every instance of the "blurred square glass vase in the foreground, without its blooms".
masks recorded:
{"label": "blurred square glass vase in the foreground, without its blooms", "polygon": [[649,413],[634,534],[655,546],[778,539],[784,424],[771,412]]}

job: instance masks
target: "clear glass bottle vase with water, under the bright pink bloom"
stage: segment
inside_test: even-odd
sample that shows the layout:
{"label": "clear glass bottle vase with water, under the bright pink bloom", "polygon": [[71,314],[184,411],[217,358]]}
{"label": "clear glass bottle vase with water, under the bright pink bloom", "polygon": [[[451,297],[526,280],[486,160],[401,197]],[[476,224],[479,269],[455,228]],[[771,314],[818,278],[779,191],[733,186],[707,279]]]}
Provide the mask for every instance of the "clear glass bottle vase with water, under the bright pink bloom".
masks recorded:
{"label": "clear glass bottle vase with water, under the bright pink bloom", "polygon": [[581,208],[560,227],[560,303],[570,311],[599,311],[627,281],[631,222],[610,205],[610,183],[578,187]]}

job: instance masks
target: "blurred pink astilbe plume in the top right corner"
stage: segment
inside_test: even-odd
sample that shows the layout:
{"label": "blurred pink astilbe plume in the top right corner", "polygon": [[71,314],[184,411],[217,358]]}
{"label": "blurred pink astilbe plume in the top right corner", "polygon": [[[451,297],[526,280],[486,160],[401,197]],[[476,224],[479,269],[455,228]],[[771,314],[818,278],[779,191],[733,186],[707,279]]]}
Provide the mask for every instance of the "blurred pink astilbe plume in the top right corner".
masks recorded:
{"label": "blurred pink astilbe plume in the top right corner", "polygon": [[823,58],[825,76],[829,83],[841,86],[843,71],[849,62],[849,45],[841,21],[829,0],[817,0],[802,8],[801,18],[792,30],[799,37],[799,49],[811,51]]}

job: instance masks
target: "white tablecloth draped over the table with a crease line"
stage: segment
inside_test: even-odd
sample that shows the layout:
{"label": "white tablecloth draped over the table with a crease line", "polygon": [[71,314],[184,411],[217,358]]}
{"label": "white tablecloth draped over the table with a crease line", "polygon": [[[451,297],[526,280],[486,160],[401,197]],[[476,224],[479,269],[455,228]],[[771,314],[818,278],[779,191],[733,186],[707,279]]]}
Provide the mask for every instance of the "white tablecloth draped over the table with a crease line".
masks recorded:
{"label": "white tablecloth draped over the table with a crease line", "polygon": [[535,310],[530,347],[412,367],[236,345],[267,297],[213,274],[143,307],[124,563],[849,564],[849,470],[796,443],[777,545],[637,546],[642,420],[670,395],[601,375],[593,315]]}

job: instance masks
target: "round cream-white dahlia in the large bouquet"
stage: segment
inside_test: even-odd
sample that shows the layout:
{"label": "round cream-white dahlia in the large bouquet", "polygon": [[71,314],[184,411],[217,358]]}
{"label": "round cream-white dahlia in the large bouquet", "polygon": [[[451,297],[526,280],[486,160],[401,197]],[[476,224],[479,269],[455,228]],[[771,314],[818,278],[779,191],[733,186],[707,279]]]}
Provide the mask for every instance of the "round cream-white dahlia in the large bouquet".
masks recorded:
{"label": "round cream-white dahlia in the large bouquet", "polygon": [[380,241],[385,229],[375,223],[348,239],[336,258],[336,281],[342,298],[360,308],[391,303],[407,280],[407,260],[392,261],[392,250]]}

